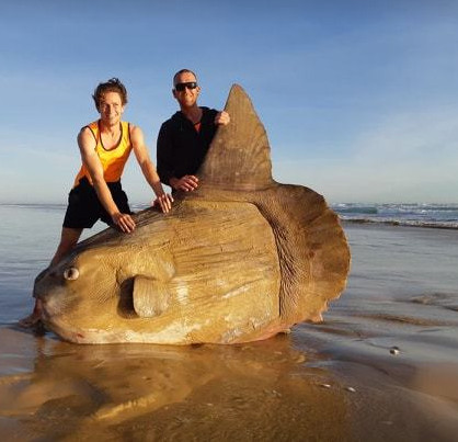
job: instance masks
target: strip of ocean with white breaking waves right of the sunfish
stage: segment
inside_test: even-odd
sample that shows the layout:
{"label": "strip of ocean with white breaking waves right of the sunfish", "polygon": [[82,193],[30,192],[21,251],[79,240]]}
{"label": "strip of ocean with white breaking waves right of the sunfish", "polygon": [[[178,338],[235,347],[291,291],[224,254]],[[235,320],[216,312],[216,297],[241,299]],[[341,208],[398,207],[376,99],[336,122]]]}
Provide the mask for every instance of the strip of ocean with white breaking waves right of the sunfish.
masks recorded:
{"label": "strip of ocean with white breaking waves right of the sunfish", "polygon": [[347,222],[458,228],[458,204],[337,203],[332,208]]}

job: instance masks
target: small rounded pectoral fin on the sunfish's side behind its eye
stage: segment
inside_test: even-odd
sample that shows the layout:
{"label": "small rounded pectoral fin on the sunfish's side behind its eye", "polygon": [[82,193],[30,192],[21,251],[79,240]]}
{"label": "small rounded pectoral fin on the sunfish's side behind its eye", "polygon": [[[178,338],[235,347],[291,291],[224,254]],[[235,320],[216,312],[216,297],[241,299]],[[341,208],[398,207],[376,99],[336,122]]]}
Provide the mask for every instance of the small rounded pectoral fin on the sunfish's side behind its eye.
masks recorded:
{"label": "small rounded pectoral fin on the sunfish's side behind its eye", "polygon": [[142,318],[164,313],[169,307],[169,292],[162,281],[147,276],[134,277],[134,309]]}

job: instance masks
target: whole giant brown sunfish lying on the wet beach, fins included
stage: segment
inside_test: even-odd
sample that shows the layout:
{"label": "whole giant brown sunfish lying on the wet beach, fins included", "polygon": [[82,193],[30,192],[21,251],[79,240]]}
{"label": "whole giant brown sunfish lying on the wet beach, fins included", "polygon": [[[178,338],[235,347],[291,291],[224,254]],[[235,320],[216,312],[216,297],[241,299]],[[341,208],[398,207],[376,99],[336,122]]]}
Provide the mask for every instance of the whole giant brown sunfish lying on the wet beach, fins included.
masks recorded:
{"label": "whole giant brown sunfish lying on the wet beach, fins included", "polygon": [[233,86],[198,172],[169,214],[108,228],[37,279],[47,328],[80,343],[237,343],[317,321],[350,250],[324,199],[272,179],[265,129]]}

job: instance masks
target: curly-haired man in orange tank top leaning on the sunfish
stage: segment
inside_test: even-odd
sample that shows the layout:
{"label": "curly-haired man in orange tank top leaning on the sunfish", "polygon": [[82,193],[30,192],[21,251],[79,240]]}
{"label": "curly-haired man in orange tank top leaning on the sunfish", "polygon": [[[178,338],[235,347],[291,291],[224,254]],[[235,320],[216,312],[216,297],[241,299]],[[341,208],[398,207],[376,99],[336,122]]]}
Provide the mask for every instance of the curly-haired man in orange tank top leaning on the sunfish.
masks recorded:
{"label": "curly-haired man in orange tank top leaning on the sunfish", "polygon": [[[162,212],[169,212],[173,202],[162,189],[141,129],[121,120],[127,104],[124,84],[112,78],[100,83],[92,97],[100,118],[84,126],[78,135],[82,166],[69,193],[60,243],[49,267],[71,251],[82,230],[91,228],[98,219],[124,233],[135,229],[127,196],[121,185],[124,166],[131,150],[157,196],[153,204],[159,205]],[[39,318],[41,303],[36,301],[32,315],[20,320],[20,325],[31,327]]]}

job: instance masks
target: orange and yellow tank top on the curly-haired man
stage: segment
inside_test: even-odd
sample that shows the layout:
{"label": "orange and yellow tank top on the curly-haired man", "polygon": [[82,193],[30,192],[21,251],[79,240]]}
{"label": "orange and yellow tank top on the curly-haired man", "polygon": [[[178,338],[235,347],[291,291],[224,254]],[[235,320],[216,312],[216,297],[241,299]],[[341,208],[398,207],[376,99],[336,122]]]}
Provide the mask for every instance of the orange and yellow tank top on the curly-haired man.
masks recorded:
{"label": "orange and yellow tank top on the curly-haired man", "polygon": [[[99,121],[88,124],[92,135],[95,138],[95,151],[100,158],[100,162],[103,167],[103,178],[108,182],[116,182],[121,180],[124,166],[126,166],[127,159],[131,151],[130,131],[129,123],[121,122],[121,137],[117,146],[113,149],[106,150],[103,147],[102,137],[100,136]],[[84,165],[81,166],[80,171],[75,179],[73,186],[77,186],[81,178],[88,178],[92,184],[91,175]]]}

